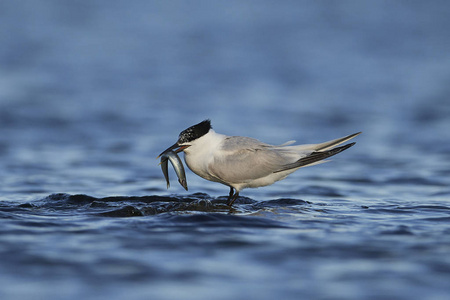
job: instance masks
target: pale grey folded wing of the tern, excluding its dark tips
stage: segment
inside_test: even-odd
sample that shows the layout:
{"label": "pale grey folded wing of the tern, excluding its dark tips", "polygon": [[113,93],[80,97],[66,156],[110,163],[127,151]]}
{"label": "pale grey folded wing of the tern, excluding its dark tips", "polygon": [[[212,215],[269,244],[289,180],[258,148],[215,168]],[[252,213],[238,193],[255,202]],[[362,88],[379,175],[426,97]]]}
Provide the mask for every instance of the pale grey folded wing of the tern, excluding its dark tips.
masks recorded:
{"label": "pale grey folded wing of the tern, excluding its dark tips", "polygon": [[265,177],[295,160],[277,147],[246,137],[229,137],[220,155],[209,165],[210,173],[227,183],[242,183]]}

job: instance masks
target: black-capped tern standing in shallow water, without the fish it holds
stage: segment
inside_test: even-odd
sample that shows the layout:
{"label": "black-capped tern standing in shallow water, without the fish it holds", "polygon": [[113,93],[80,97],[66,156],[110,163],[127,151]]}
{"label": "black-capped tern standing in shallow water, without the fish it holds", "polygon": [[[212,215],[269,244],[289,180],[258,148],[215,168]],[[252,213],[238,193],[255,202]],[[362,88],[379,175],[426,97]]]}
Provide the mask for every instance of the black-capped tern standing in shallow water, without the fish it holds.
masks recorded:
{"label": "black-capped tern standing in shallow water, without the fish it holds", "polygon": [[243,189],[271,185],[302,167],[326,162],[326,158],[352,147],[354,142],[339,145],[359,134],[320,144],[292,145],[295,141],[289,141],[270,145],[250,137],[216,133],[211,120],[206,119],[183,130],[177,142],[160,156],[183,151],[192,172],[230,188],[227,205],[231,207]]}

